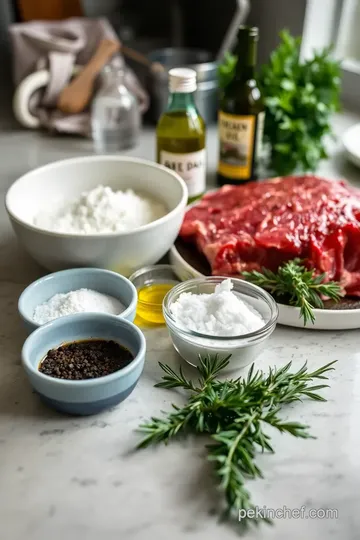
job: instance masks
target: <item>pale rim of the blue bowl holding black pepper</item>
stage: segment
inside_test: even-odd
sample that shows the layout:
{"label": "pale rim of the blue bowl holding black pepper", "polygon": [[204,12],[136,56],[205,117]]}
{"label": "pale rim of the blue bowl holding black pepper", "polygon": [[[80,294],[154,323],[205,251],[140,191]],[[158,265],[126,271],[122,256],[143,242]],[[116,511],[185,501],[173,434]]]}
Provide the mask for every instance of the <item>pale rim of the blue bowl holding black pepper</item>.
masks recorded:
{"label": "pale rim of the blue bowl holding black pepper", "polygon": [[[137,337],[139,338],[139,352],[135,356],[135,358],[128,364],[126,367],[119,369],[118,371],[115,371],[114,373],[111,373],[110,375],[105,375],[103,377],[97,377],[94,379],[85,379],[81,381],[72,381],[69,379],[57,379],[56,377],[49,377],[48,375],[44,375],[41,373],[38,369],[36,369],[33,364],[30,362],[30,347],[32,344],[32,341],[42,334],[46,335],[47,332],[56,326],[62,326],[63,324],[69,324],[73,322],[74,324],[77,322],[77,320],[82,321],[90,321],[90,320],[103,320],[108,321],[111,324],[115,324],[118,326],[128,326],[132,330],[135,331],[135,334],[137,334]],[[86,339],[86,338],[84,338]],[[101,336],[98,337],[98,339],[101,339]],[[116,341],[114,339],[114,341]],[[61,338],[59,338],[59,345],[61,344]],[[59,317],[58,319],[55,319],[54,321],[50,321],[46,324],[43,324],[34,332],[32,332],[27,339],[24,342],[24,345],[21,350],[21,363],[25,370],[29,370],[32,372],[33,375],[36,377],[39,377],[40,379],[44,379],[47,382],[51,382],[51,384],[61,385],[61,386],[79,386],[79,387],[91,387],[91,386],[97,386],[97,385],[103,385],[108,384],[109,382],[112,382],[116,379],[125,377],[127,374],[131,373],[142,361],[143,358],[145,358],[146,353],[146,340],[144,334],[141,332],[141,330],[135,326],[134,323],[122,319],[121,317],[117,317],[116,315],[109,315],[107,313],[75,313],[74,315],[66,315],[64,317]]]}

